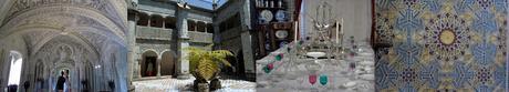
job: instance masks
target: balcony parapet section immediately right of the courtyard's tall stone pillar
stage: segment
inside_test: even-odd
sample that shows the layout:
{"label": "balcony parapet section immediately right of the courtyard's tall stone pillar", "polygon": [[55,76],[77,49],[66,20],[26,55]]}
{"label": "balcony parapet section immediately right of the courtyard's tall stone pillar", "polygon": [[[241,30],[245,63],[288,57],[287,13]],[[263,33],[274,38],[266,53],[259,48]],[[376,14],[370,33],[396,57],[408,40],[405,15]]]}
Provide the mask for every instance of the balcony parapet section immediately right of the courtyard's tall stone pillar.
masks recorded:
{"label": "balcony parapet section immediately right of the courtyard's tall stone pillar", "polygon": [[212,33],[189,31],[190,42],[212,43]]}

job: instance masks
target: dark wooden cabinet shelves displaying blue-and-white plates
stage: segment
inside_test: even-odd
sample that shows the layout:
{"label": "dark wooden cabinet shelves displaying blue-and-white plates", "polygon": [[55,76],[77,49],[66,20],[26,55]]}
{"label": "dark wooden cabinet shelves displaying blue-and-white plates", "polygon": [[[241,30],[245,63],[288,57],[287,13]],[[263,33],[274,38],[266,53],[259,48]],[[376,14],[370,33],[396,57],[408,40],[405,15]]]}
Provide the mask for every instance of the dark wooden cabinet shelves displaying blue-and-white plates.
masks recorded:
{"label": "dark wooden cabinet shelves displaying blue-and-white plates", "polygon": [[253,6],[259,59],[293,41],[294,23],[283,0],[254,0]]}

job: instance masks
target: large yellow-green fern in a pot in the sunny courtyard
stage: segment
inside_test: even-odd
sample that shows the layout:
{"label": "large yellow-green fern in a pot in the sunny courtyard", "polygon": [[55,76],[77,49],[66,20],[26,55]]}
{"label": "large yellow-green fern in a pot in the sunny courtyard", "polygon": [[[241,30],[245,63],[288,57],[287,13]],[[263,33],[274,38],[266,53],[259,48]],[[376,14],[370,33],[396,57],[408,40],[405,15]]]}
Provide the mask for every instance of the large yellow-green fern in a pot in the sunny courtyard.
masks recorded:
{"label": "large yellow-green fern in a pot in the sunny courtyard", "polygon": [[217,82],[219,82],[220,69],[221,67],[231,67],[226,58],[233,54],[227,50],[207,51],[194,47],[189,47],[187,50],[189,51],[187,58],[189,59],[190,73],[196,78],[194,89],[198,92],[208,92],[208,82],[212,80],[214,83],[210,89],[219,89],[220,83]]}

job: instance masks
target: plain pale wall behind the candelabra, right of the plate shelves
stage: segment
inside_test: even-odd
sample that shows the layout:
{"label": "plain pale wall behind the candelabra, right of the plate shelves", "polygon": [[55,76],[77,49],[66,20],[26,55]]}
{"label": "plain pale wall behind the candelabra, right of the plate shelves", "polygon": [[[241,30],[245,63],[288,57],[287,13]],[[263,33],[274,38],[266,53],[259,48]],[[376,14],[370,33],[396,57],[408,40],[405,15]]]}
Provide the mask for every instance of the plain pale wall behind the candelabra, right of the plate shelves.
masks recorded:
{"label": "plain pale wall behind the candelabra, right of the plate shelves", "polygon": [[[364,40],[371,35],[372,11],[371,0],[303,0],[307,16],[315,16],[318,6],[328,1],[332,6],[333,13],[341,21],[344,19],[344,38],[355,37],[356,41]],[[302,19],[302,17],[301,17]],[[311,18],[305,17],[305,30],[312,30]],[[302,25],[302,24],[301,24]]]}

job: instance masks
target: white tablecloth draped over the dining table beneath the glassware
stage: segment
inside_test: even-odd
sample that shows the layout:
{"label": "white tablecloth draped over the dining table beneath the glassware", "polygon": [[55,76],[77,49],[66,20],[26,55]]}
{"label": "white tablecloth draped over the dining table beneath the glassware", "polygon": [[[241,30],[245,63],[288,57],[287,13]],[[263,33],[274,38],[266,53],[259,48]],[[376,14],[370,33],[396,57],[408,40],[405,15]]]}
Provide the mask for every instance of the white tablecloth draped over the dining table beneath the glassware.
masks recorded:
{"label": "white tablecloth draped over the dining table beneath the glassware", "polygon": [[[288,45],[271,52],[268,57],[257,60],[257,91],[277,91],[277,92],[309,92],[309,91],[332,91],[332,92],[373,92],[374,81],[374,52],[372,49],[359,53],[360,55],[346,60],[319,59],[321,67],[318,76],[328,78],[325,84],[309,82],[309,72],[305,67],[311,64],[308,61],[314,59],[304,59],[292,61],[290,58],[283,58],[281,61],[274,61],[276,54],[289,54]],[[273,62],[274,61],[274,62]],[[302,62],[303,61],[303,62]],[[357,61],[355,69],[350,69],[351,61]],[[273,62],[273,69],[267,73],[263,67]],[[319,78],[316,78],[319,79]]]}

